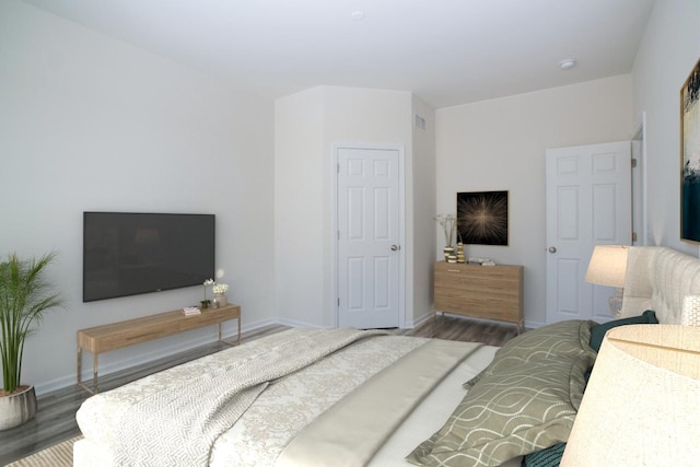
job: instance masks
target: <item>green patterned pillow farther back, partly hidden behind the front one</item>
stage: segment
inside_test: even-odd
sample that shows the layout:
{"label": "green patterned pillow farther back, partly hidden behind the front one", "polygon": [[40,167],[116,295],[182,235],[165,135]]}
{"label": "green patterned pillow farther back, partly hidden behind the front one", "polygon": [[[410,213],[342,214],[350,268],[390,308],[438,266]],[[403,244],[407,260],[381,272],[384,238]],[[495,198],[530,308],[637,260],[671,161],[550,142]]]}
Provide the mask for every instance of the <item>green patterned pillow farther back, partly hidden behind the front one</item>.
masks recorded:
{"label": "green patterned pillow farther back, partly hidden behind the front one", "polygon": [[591,328],[596,324],[591,320],[567,320],[529,330],[514,339],[495,352],[493,361],[481,373],[464,384],[466,388],[474,386],[479,380],[523,363],[541,361],[561,357],[593,357],[591,348]]}

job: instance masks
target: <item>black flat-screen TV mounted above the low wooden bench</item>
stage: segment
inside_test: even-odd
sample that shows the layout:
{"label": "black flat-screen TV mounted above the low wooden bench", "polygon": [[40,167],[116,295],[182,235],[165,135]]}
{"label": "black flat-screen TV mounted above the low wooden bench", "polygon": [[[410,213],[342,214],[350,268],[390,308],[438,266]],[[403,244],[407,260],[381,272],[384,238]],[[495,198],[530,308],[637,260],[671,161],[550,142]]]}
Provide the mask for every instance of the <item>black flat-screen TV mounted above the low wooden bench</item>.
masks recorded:
{"label": "black flat-screen TV mounted above the low wooden bench", "polygon": [[83,302],[201,285],[214,214],[83,213]]}

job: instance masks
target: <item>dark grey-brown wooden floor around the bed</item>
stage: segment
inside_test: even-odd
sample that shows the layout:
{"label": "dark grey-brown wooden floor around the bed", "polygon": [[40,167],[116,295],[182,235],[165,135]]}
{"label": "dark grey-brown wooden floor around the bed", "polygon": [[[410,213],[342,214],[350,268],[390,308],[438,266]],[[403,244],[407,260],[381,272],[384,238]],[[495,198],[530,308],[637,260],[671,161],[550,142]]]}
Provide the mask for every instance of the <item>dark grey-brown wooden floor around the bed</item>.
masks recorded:
{"label": "dark grey-brown wooden floor around the bed", "polygon": [[[244,332],[241,340],[245,343],[284,329],[287,329],[285,326],[267,326]],[[394,332],[407,336],[485,342],[499,347],[516,336],[515,326],[476,322],[448,315],[430,319],[415,329],[396,329]],[[224,348],[228,348],[228,346],[215,342],[168,357],[167,359],[105,375],[100,378],[100,388],[101,390],[112,389]],[[61,441],[78,436],[80,430],[75,423],[75,411],[89,396],[84,389],[77,385],[39,396],[38,411],[33,420],[15,429],[0,431],[0,466],[52,446]]]}

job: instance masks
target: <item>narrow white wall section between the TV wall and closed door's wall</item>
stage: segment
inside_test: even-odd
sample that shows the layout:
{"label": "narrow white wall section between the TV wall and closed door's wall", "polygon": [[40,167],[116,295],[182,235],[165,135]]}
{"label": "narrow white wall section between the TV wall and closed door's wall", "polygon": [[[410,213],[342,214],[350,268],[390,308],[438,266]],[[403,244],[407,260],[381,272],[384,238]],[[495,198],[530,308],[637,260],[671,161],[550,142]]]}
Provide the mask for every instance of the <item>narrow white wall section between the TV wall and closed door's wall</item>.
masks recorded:
{"label": "narrow white wall section between the TV wall and closed door's wall", "polygon": [[275,289],[282,323],[330,327],[324,315],[324,89],[275,103]]}

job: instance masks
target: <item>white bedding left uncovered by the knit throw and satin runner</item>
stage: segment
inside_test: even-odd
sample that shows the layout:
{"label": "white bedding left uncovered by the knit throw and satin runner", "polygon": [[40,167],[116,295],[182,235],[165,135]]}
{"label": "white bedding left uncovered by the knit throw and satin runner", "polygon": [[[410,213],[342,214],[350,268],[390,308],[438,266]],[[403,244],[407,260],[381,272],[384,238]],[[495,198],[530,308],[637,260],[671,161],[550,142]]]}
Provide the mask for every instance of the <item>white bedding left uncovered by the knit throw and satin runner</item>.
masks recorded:
{"label": "white bedding left uncovered by the knit throw and satin runner", "polygon": [[[383,366],[423,345],[428,339],[386,336],[370,339],[335,353],[315,365],[270,385],[243,417],[215,442],[211,466],[271,466],[276,457],[308,421],[323,412],[342,395],[363,383]],[[257,342],[257,343],[256,343]],[[387,345],[388,343],[388,345]],[[153,385],[167,384],[172,378],[188,377],[191,372],[215,365],[217,360],[240,354],[247,346],[265,346],[265,339],[241,348],[209,355],[149,376],[139,382],[92,397],[78,412],[78,421],[85,436],[74,447],[75,466],[114,466],[114,443],[117,413],[127,409],[137,395],[151,390]],[[492,359],[495,347],[483,346],[469,355],[418,407],[397,433],[377,453],[373,466],[407,466],[404,457],[421,441],[440,428],[457,402],[464,397],[462,383],[475,376]],[[323,392],[316,390],[324,387]],[[517,465],[517,464],[513,464]]]}

